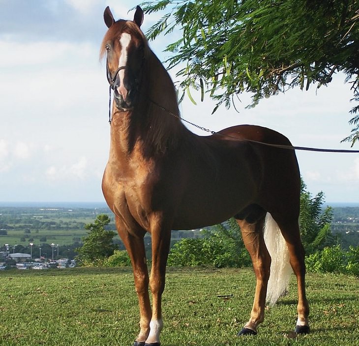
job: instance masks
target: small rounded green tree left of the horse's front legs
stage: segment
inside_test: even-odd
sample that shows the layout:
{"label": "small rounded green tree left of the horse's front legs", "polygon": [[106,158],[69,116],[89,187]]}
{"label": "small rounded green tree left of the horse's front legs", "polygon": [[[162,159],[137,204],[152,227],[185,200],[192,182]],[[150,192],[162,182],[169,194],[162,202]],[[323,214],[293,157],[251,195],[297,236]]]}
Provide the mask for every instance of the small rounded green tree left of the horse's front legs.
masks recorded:
{"label": "small rounded green tree left of the horse's front legs", "polygon": [[84,237],[83,246],[77,249],[76,260],[80,265],[98,266],[102,265],[105,259],[114,254],[117,245],[113,242],[116,235],[114,231],[106,231],[105,227],[110,223],[106,214],[98,215],[94,223],[85,225],[88,236]]}

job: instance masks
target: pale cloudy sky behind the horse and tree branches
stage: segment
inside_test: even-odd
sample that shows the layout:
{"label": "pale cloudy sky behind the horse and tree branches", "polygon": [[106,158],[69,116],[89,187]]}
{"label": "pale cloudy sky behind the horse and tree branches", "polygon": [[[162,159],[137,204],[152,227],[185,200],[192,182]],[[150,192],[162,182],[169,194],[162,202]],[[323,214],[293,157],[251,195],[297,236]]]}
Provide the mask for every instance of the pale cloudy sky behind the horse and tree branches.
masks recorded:
{"label": "pale cloudy sky behind the horse and tree branches", "polygon": [[[108,158],[108,83],[98,59],[109,5],[132,19],[133,0],[0,0],[0,202],[99,202]],[[145,17],[146,31],[157,14]],[[179,35],[175,32],[174,35]],[[151,42],[162,53],[167,38]],[[176,77],[174,77],[176,79]],[[329,87],[290,90],[234,110],[188,99],[182,116],[220,130],[258,124],[285,134],[294,145],[347,149],[350,85],[337,75]],[[198,133],[199,130],[189,128]],[[356,145],[355,149],[358,149]],[[298,152],[308,189],[327,202],[359,202],[359,155]]]}

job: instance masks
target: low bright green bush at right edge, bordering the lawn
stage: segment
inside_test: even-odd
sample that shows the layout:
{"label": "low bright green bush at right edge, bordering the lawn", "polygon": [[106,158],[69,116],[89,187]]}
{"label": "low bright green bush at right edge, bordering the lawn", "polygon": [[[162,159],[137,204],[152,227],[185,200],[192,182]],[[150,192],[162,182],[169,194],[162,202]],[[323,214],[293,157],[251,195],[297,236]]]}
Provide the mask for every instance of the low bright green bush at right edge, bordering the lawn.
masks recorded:
{"label": "low bright green bush at right edge, bordering the lawn", "polygon": [[305,259],[308,271],[359,276],[359,246],[344,251],[339,245],[326,247]]}

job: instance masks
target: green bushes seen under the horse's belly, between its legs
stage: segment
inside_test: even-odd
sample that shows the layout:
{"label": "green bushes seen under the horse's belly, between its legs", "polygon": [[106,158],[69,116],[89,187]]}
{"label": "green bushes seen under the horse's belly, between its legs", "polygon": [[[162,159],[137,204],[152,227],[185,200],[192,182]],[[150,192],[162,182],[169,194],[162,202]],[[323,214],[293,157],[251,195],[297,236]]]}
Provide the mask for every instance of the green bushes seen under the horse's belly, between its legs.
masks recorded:
{"label": "green bushes seen under the horse's belly, between its legs", "polygon": [[247,251],[240,236],[235,219],[216,225],[211,231],[204,231],[204,238],[186,238],[172,248],[168,265],[242,267],[250,264]]}

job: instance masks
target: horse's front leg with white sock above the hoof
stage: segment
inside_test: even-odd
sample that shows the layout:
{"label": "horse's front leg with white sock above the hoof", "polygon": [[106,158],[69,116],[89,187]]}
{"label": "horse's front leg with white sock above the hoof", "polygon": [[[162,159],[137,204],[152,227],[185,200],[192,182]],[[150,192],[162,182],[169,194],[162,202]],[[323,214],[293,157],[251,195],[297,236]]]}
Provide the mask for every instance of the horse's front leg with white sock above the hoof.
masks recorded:
{"label": "horse's front leg with white sock above the hoof", "polygon": [[150,335],[146,346],[159,346],[159,335],[163,326],[161,298],[165,288],[166,263],[170,251],[171,230],[155,226],[151,230],[152,238],[152,268],[150,289],[152,292],[152,317]]}

